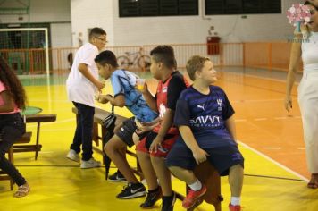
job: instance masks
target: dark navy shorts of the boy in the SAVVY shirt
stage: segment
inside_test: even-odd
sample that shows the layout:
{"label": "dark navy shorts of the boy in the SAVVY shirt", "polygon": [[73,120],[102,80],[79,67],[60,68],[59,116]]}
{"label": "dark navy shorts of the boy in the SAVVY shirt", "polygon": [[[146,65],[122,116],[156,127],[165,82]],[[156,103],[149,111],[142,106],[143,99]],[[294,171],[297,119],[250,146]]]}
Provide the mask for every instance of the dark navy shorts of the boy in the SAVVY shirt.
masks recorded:
{"label": "dark navy shorts of the boy in the SAVVY shirt", "polygon": [[[207,160],[215,167],[221,176],[229,175],[230,167],[242,165],[244,167],[244,157],[238,151],[238,146],[204,148],[210,155]],[[194,170],[197,163],[192,151],[187,146],[174,145],[167,156],[166,165],[168,167],[178,166],[180,168]]]}

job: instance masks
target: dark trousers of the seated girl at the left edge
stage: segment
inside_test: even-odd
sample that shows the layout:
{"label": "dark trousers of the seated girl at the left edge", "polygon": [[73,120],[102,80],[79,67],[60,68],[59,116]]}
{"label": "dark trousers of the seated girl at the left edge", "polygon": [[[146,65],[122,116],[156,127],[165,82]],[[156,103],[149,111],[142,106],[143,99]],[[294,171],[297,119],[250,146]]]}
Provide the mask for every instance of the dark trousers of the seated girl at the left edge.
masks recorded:
{"label": "dark trousers of the seated girl at the left edge", "polygon": [[25,124],[21,114],[0,114],[0,168],[7,173],[18,186],[27,181],[15,166],[5,157],[5,153],[25,133]]}

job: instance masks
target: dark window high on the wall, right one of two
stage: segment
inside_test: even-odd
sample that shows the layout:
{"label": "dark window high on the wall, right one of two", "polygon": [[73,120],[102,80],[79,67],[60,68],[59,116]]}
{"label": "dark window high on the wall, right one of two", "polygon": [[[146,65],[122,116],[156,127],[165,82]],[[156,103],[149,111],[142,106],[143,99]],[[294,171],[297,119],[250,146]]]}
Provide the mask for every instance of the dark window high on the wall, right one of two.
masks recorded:
{"label": "dark window high on the wall, right one of two", "polygon": [[281,13],[281,0],[205,0],[205,15]]}

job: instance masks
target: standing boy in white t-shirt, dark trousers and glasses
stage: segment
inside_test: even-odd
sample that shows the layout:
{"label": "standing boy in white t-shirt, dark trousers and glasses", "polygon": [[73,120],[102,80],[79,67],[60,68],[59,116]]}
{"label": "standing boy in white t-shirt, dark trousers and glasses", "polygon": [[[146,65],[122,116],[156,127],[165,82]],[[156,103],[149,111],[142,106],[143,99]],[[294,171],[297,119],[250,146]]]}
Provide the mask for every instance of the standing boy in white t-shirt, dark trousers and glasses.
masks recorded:
{"label": "standing boy in white t-shirt, dark trousers and glasses", "polygon": [[107,43],[106,32],[93,28],[89,33],[89,42],[77,51],[71,72],[66,80],[69,100],[78,109],[76,131],[67,158],[79,162],[80,145],[82,158],[80,168],[99,167],[100,162],[93,158],[92,130],[95,114],[94,95],[104,83],[98,80],[98,69],[94,61],[96,55]]}

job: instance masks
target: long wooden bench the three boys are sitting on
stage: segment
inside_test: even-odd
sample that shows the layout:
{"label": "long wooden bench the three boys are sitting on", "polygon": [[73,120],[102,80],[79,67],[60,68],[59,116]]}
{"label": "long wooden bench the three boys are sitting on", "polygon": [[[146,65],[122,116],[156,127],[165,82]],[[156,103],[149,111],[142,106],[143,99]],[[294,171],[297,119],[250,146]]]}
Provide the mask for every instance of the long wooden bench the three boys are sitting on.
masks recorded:
{"label": "long wooden bench the three boys are sitting on", "polygon": [[[72,112],[74,114],[78,113],[77,109],[75,107],[72,108]],[[105,117],[108,116],[109,114],[111,114],[111,113],[107,112],[103,109],[100,109],[100,108],[95,108],[94,124],[93,124],[93,140],[94,140],[94,142],[96,142],[97,147],[99,146],[99,140],[102,140],[102,137],[104,137],[104,135],[105,135],[105,130],[103,129],[103,127],[101,128],[102,132],[99,135],[98,127],[99,127],[99,125],[102,124]],[[126,117],[123,117],[119,114],[116,114],[116,116],[117,116],[116,124],[127,120]],[[104,146],[102,146],[102,149],[96,148],[94,146],[93,149],[96,150],[96,152],[103,154]],[[137,159],[136,153],[134,153],[130,150],[127,150],[126,152],[128,155],[134,156]],[[137,166],[131,167],[131,169],[134,173],[136,173],[136,174],[138,174],[138,176],[140,176],[140,179],[143,178],[143,173],[141,172],[141,168],[139,166],[138,159],[137,159]],[[208,162],[197,165],[197,167],[195,169],[195,174],[196,174],[197,178],[206,185],[207,191],[205,193],[205,196],[200,198],[197,201],[197,204],[188,210],[193,210],[198,205],[200,205],[203,202],[203,200],[205,200],[205,202],[212,204],[216,211],[221,211],[221,202],[222,202],[223,198],[221,195],[220,175],[216,172],[214,167],[212,165],[210,165]],[[188,192],[187,186],[186,186],[186,190]],[[177,195],[177,198],[179,198],[180,200],[183,200],[185,198],[182,194],[180,194],[178,192],[176,192],[176,195]]]}

